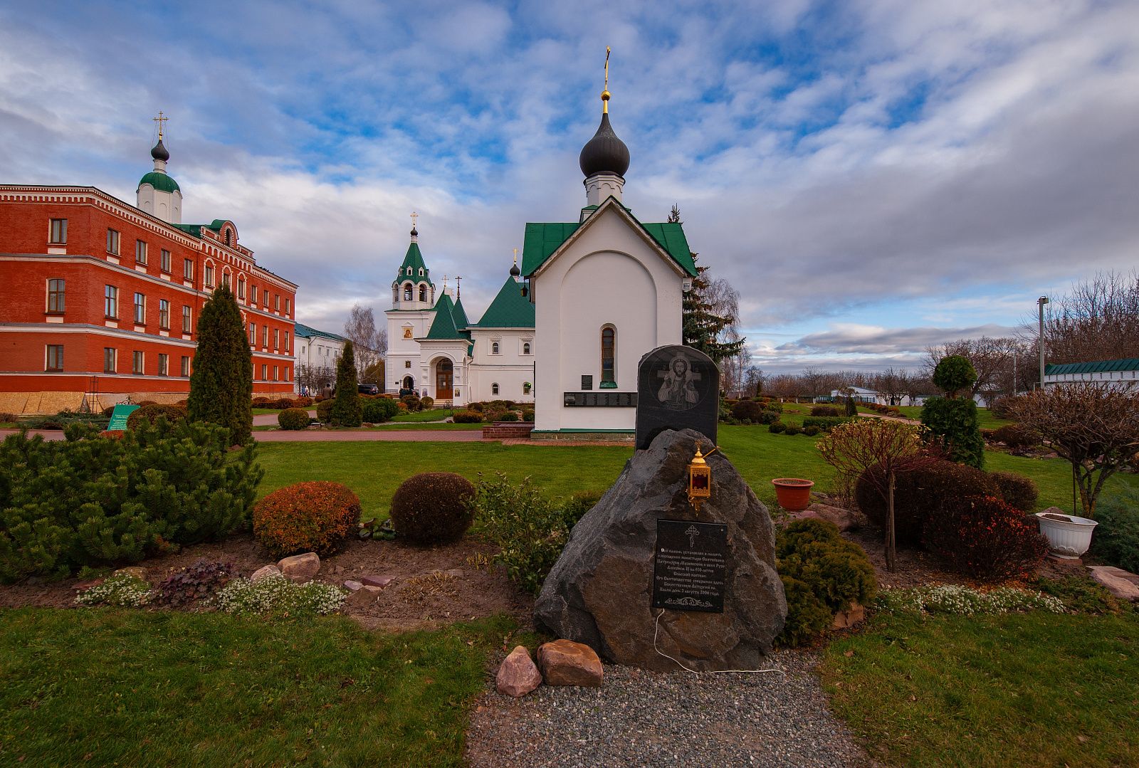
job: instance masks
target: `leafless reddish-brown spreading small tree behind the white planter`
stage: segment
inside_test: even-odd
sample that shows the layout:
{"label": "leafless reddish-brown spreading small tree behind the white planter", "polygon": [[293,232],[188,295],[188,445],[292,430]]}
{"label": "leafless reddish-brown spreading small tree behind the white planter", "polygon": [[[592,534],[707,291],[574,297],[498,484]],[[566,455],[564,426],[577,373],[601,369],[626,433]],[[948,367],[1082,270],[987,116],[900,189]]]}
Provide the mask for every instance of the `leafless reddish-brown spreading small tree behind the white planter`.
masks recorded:
{"label": "leafless reddish-brown spreading small tree behind the white planter", "polygon": [[1009,409],[1071,463],[1083,516],[1095,517],[1104,483],[1139,451],[1139,391],[1070,382],[1030,392]]}

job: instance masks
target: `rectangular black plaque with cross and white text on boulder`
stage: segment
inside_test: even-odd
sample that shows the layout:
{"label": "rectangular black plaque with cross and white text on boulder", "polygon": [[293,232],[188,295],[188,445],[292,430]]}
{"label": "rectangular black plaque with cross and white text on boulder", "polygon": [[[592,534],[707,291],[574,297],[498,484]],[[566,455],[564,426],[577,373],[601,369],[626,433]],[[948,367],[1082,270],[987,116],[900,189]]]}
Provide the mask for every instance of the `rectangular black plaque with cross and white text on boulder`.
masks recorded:
{"label": "rectangular black plaque with cross and white text on boulder", "polygon": [[653,607],[723,613],[728,526],[690,520],[656,521]]}

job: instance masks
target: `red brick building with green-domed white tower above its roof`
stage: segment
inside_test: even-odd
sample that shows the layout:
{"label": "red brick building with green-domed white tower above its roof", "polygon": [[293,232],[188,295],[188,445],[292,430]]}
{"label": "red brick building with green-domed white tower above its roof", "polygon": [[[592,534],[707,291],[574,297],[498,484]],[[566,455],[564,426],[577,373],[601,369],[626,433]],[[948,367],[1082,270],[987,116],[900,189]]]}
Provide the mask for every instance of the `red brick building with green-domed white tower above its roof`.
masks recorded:
{"label": "red brick building with green-domed white tower above its roof", "polygon": [[254,394],[293,392],[296,285],[259,267],[232,221],[181,223],[161,139],[151,155],[138,206],[95,187],[0,185],[0,411],[186,398],[197,318],[223,281]]}

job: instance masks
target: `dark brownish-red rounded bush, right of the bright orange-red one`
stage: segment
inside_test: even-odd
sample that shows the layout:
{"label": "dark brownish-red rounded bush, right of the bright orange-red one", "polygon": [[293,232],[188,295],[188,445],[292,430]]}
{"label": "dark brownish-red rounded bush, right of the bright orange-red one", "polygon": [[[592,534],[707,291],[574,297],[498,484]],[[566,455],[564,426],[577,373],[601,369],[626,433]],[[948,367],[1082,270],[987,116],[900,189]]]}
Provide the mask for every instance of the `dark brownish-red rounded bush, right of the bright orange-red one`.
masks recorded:
{"label": "dark brownish-red rounded bush, right of the bright orange-red one", "polygon": [[392,496],[396,532],[416,544],[442,544],[462,538],[475,510],[475,487],[453,472],[412,475]]}

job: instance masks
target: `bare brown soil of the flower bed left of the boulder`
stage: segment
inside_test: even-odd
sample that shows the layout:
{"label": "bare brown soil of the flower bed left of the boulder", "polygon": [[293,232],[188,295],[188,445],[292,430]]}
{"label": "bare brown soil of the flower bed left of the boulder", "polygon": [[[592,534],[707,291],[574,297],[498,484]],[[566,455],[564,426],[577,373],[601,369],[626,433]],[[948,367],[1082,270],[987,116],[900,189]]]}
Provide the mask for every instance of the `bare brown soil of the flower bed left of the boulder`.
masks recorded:
{"label": "bare brown soil of the flower bed left of the boulder", "polygon": [[[391,583],[375,600],[353,600],[345,606],[344,612],[368,629],[427,629],[503,613],[528,628],[533,598],[515,587],[501,567],[490,566],[494,552],[494,547],[474,539],[437,547],[355,540],[343,552],[322,557],[316,580],[341,586],[366,575],[391,577]],[[239,534],[137,565],[146,571],[147,581],[157,583],[198,559],[231,562],[240,577],[277,562],[251,534]],[[76,591],[90,583],[80,579],[31,578],[0,586],[0,607],[74,607]]]}

